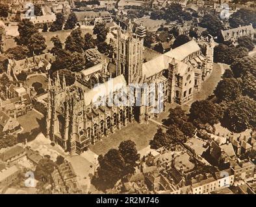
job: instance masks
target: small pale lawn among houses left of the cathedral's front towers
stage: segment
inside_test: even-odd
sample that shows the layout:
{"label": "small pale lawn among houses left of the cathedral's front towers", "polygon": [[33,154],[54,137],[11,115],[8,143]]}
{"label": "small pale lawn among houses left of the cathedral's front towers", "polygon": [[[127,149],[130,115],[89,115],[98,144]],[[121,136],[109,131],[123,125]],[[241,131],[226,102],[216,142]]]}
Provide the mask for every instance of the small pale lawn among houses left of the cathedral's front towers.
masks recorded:
{"label": "small pale lawn among houses left of the cathedral's front towers", "polygon": [[30,132],[32,129],[39,127],[38,120],[41,118],[42,115],[34,110],[28,111],[27,114],[23,116],[19,116],[17,120],[21,127],[23,127],[23,131],[21,133]]}

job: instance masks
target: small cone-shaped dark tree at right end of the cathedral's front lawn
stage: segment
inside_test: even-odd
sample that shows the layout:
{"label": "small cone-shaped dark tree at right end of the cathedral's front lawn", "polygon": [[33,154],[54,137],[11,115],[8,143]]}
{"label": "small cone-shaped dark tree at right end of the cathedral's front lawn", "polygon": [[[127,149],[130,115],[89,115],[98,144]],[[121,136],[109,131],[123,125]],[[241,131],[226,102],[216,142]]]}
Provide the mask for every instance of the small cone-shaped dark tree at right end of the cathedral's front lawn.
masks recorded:
{"label": "small cone-shaped dark tree at right end of the cathedral's front lawn", "polygon": [[159,149],[160,147],[169,146],[170,139],[162,131],[162,128],[158,128],[157,133],[155,133],[153,140],[150,140],[149,144],[152,149]]}

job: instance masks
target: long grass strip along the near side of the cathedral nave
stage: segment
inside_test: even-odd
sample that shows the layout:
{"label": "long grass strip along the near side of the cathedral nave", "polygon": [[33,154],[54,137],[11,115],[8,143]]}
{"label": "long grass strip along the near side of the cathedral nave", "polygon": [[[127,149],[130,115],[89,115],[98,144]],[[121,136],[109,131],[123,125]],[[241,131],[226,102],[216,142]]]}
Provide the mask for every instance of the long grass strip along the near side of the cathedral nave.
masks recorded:
{"label": "long grass strip along the near side of the cathedral nave", "polygon": [[122,127],[121,130],[116,130],[113,134],[103,137],[102,141],[90,146],[97,155],[107,153],[109,149],[116,148],[120,142],[124,140],[133,140],[137,150],[141,150],[149,145],[149,140],[153,139],[157,131],[157,125],[149,122],[149,124],[138,124],[136,122],[127,124],[127,127]]}

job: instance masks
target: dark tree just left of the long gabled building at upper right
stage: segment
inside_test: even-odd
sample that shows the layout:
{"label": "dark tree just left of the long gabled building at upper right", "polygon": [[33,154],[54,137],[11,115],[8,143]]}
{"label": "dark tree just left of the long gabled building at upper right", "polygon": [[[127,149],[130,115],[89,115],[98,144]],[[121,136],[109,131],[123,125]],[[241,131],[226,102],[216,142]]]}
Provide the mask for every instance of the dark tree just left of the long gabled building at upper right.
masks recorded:
{"label": "dark tree just left of the long gabled building at upper right", "polygon": [[218,36],[220,30],[224,28],[220,19],[212,14],[205,14],[199,25],[201,27],[207,28],[209,34],[212,36]]}

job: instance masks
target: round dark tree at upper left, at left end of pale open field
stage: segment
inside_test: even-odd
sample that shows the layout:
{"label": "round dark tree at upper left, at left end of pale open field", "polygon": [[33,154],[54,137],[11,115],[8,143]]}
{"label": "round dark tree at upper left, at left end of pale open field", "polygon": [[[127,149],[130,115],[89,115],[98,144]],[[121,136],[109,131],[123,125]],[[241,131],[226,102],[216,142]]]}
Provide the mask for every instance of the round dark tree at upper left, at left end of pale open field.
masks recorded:
{"label": "round dark tree at upper left, at left end of pale open field", "polygon": [[27,43],[29,50],[34,54],[42,54],[43,50],[46,49],[45,38],[40,33],[33,34]]}

